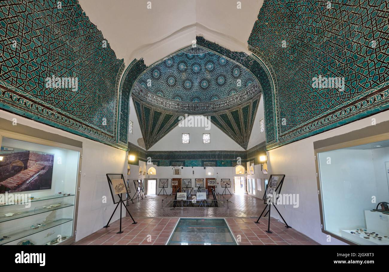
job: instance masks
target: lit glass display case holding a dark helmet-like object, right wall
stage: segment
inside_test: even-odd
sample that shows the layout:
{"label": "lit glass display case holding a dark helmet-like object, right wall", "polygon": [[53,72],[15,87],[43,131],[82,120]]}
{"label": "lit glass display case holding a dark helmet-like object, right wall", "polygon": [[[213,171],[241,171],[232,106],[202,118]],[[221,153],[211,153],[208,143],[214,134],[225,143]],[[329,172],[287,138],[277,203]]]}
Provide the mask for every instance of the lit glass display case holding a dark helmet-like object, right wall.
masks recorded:
{"label": "lit glass display case holding a dark helmet-like object, right wall", "polygon": [[389,245],[389,140],[317,156],[323,232],[350,244]]}

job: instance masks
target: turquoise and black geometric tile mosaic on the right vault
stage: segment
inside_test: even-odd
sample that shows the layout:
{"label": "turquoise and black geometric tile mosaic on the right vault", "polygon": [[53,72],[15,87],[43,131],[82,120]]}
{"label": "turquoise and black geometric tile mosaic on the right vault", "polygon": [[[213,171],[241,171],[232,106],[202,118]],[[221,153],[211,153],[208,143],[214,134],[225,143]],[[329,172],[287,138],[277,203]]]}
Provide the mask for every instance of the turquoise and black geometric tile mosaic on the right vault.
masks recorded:
{"label": "turquoise and black geometric tile mosaic on the right vault", "polygon": [[[248,43],[277,85],[274,145],[389,108],[388,7],[382,0],[264,2]],[[331,80],[344,80],[344,88]]]}

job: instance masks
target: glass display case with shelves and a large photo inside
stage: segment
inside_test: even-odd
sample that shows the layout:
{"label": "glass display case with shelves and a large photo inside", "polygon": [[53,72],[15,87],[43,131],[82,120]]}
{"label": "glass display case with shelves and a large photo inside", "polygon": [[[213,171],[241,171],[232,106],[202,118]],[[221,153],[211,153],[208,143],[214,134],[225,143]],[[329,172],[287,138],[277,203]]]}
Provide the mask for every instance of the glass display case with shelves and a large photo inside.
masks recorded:
{"label": "glass display case with shelves and a large photo inside", "polygon": [[75,241],[82,149],[0,130],[0,245]]}

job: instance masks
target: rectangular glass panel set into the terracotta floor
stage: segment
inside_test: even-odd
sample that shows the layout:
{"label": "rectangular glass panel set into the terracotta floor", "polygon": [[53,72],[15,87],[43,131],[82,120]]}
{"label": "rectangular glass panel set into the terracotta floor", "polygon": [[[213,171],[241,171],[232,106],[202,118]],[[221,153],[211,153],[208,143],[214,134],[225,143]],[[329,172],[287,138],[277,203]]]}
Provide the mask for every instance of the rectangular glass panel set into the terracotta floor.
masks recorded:
{"label": "rectangular glass panel set into the terracotta floor", "polygon": [[180,218],[168,245],[237,245],[224,218]]}

